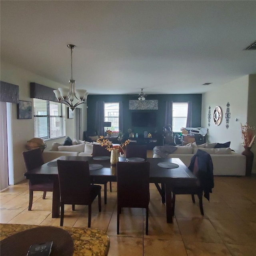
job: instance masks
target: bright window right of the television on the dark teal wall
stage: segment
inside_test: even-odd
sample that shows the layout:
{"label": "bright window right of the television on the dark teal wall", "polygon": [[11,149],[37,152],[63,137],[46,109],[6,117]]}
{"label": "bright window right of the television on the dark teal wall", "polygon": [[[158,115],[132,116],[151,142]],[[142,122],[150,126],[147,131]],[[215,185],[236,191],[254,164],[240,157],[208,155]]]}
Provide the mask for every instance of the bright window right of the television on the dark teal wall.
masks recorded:
{"label": "bright window right of the television on the dark teal wall", "polygon": [[172,103],[172,130],[180,132],[180,128],[186,127],[188,117],[188,102]]}

